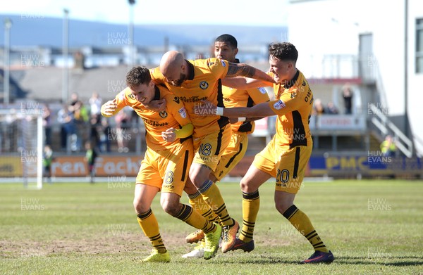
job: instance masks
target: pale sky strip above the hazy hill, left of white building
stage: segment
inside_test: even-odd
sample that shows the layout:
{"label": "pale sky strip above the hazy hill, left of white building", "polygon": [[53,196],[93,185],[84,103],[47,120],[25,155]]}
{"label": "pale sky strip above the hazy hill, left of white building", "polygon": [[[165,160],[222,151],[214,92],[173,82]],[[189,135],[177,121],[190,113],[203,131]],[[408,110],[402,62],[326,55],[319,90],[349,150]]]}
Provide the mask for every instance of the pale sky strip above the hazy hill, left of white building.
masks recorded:
{"label": "pale sky strip above the hazy hill, left of white building", "polygon": [[[259,5],[265,3],[265,5]],[[268,4],[271,3],[271,4]],[[286,25],[288,0],[136,0],[135,24]],[[23,17],[63,16],[67,8],[72,19],[126,24],[128,0],[14,0],[2,4],[0,13]]]}

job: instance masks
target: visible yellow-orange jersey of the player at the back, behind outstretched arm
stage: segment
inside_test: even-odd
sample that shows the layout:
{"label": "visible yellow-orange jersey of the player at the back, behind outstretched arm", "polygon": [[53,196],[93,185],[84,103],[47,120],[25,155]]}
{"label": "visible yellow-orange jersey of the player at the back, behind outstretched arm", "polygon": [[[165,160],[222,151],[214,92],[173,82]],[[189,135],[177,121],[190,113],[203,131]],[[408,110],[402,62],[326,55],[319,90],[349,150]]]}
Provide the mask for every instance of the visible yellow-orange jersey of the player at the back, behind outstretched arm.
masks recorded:
{"label": "visible yellow-orange jersey of the player at the back, behind outstretched arm", "polygon": [[[233,89],[223,86],[223,103],[226,108],[252,107],[253,105],[269,101],[266,89]],[[237,122],[231,124],[232,132],[250,134],[254,132],[255,122]]]}

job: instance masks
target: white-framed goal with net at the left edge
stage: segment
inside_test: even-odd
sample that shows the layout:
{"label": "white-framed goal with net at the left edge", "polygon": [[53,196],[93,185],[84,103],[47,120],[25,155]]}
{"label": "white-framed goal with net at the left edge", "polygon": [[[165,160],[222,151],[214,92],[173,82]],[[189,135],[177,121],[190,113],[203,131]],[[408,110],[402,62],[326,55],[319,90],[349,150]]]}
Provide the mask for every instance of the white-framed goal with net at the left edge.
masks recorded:
{"label": "white-framed goal with net at the left edge", "polygon": [[42,188],[43,127],[38,103],[0,110],[0,178]]}

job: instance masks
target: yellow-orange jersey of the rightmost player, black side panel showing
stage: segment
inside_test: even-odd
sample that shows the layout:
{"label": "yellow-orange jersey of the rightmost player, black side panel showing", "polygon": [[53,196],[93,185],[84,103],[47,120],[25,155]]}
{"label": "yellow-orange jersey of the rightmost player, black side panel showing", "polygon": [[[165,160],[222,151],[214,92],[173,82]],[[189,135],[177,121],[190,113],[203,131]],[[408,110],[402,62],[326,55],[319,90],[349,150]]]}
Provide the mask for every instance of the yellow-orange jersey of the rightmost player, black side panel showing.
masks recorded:
{"label": "yellow-orange jersey of the rightmost player, black side panel showing", "polygon": [[[268,74],[273,77],[272,72]],[[312,113],[313,93],[307,79],[298,70],[288,85],[274,84],[275,100],[269,105],[276,115],[276,146],[311,145],[309,118]]]}

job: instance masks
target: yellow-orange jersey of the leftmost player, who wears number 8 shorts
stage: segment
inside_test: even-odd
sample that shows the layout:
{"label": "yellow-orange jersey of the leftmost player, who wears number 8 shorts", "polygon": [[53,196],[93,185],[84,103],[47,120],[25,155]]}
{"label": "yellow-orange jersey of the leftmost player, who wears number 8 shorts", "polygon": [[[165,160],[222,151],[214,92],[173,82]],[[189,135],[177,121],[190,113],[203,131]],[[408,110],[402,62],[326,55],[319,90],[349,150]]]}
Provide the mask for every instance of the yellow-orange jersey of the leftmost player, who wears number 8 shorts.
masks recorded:
{"label": "yellow-orange jersey of the leftmost player, who wears number 8 shorts", "polygon": [[154,110],[148,110],[145,105],[137,101],[129,88],[124,89],[116,96],[118,108],[116,113],[125,106],[132,107],[137,115],[142,117],[145,124],[147,146],[154,150],[163,150],[163,148],[172,148],[180,143],[180,139],[168,142],[161,137],[161,132],[169,128],[180,129],[181,126],[191,123],[190,116],[185,110],[183,103],[178,101],[173,94],[165,87],[156,86],[154,100],[166,99],[166,110],[158,113]]}

